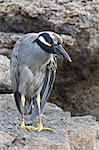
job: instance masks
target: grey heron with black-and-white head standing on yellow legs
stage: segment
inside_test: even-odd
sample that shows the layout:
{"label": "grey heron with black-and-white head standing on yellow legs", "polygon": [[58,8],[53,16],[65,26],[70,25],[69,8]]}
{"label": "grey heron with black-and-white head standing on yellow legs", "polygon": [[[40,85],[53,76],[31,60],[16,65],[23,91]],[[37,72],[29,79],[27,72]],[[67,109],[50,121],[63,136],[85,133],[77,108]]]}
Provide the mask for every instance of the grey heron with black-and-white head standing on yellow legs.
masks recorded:
{"label": "grey heron with black-and-white head standing on yellow legs", "polygon": [[[51,130],[41,122],[46,101],[51,93],[57,68],[57,54],[71,62],[62,48],[60,35],[44,31],[22,36],[11,56],[11,81],[15,102],[22,114],[21,127],[28,130]],[[24,115],[38,116],[38,126],[25,125]]]}

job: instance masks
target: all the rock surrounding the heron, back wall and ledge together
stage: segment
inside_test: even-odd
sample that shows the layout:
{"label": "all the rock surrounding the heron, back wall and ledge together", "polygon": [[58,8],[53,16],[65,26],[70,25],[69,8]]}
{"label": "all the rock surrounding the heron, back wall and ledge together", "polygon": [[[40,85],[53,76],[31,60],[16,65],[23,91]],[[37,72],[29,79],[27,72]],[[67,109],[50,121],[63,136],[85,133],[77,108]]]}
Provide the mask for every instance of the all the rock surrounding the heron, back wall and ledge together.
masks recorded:
{"label": "all the rock surrounding the heron, back wall and ledge together", "polygon": [[[60,33],[73,60],[69,64],[59,58],[50,101],[73,115],[91,114],[99,120],[98,1],[1,0],[0,93],[12,92],[8,58],[14,43],[23,33],[42,30]],[[22,130],[13,95],[0,95],[0,149],[99,149],[99,124],[94,117],[71,117],[53,104],[47,105],[45,114],[43,123],[53,133]]]}

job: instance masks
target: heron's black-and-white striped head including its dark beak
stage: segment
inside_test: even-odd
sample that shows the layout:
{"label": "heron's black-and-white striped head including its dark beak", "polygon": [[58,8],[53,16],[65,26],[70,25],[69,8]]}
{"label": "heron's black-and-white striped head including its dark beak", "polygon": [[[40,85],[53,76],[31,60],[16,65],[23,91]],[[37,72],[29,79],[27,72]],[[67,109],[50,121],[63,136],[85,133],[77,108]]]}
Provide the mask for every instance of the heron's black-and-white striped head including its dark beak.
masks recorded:
{"label": "heron's black-and-white striped head including its dark beak", "polygon": [[46,52],[53,54],[60,54],[69,62],[72,62],[68,53],[62,47],[62,38],[54,32],[40,32],[36,39],[37,44]]}

